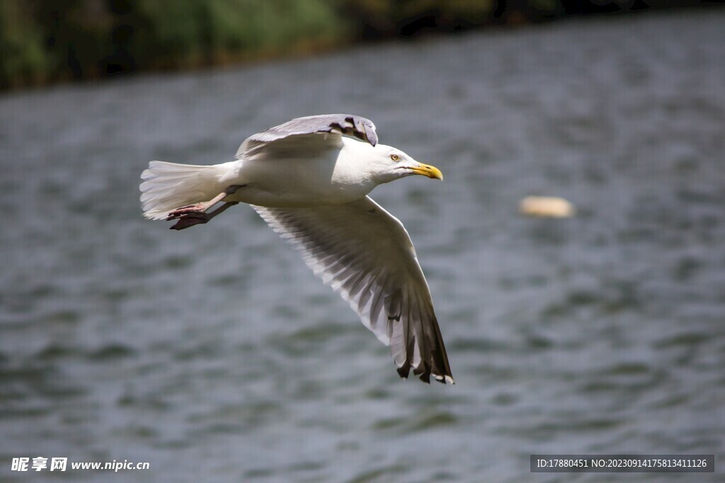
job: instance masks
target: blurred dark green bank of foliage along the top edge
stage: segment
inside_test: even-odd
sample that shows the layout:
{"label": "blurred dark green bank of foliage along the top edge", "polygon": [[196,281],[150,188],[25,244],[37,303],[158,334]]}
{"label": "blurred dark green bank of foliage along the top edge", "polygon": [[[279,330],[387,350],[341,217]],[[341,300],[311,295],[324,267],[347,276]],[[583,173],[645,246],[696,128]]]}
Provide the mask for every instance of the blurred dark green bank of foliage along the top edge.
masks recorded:
{"label": "blurred dark green bank of foliage along the top edge", "polygon": [[[648,3],[671,2],[687,4]],[[0,0],[0,88],[299,54],[429,29],[532,22],[564,14],[567,5],[579,13],[600,1]]]}

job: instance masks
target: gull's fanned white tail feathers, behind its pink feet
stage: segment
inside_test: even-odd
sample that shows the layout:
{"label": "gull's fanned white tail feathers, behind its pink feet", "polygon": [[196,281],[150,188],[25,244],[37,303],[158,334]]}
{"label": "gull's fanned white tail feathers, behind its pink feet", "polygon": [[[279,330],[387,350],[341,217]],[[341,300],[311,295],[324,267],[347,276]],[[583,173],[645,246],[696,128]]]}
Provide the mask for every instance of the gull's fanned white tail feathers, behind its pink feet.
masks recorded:
{"label": "gull's fanned white tail feathers, behind its pink feet", "polygon": [[220,192],[219,175],[219,165],[151,161],[141,173],[144,217],[164,219],[169,211],[213,198]]}

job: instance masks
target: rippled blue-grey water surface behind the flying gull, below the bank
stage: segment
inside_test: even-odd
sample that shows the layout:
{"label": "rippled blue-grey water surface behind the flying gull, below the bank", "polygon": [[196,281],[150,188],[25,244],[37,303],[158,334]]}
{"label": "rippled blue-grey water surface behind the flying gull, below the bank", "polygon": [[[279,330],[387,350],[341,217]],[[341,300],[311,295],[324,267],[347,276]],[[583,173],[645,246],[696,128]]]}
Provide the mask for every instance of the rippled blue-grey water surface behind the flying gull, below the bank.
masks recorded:
{"label": "rippled blue-grey water surface behind the flying gull, below the bank", "polygon": [[[17,456],[151,463],[64,479],[115,482],[621,479],[531,475],[531,453],[722,466],[724,22],[571,20],[2,96],[0,479],[60,481]],[[324,112],[446,175],[373,197],[418,248],[453,387],[399,381],[252,209],[141,218],[149,160],[226,161]],[[530,194],[578,216],[521,217]]]}

